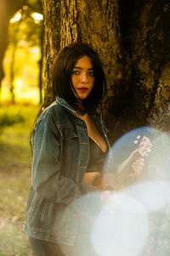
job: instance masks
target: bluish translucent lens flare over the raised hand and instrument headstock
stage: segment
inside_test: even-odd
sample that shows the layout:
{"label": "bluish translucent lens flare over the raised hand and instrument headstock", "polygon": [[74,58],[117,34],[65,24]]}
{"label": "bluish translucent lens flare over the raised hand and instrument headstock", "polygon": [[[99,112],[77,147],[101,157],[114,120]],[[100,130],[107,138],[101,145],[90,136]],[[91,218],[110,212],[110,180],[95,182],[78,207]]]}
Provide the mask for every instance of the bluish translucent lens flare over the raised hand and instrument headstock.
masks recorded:
{"label": "bluish translucent lens flare over the raised hand and instrument headstock", "polygon": [[[111,147],[106,158],[104,174],[123,172],[125,176],[133,174],[133,162],[144,159],[144,168],[129,179],[126,185],[137,184],[142,181],[170,181],[170,135],[155,128],[138,128],[122,136]],[[127,168],[127,173],[126,173]],[[133,176],[133,175],[131,175]],[[134,181],[134,182],[133,182]]]}

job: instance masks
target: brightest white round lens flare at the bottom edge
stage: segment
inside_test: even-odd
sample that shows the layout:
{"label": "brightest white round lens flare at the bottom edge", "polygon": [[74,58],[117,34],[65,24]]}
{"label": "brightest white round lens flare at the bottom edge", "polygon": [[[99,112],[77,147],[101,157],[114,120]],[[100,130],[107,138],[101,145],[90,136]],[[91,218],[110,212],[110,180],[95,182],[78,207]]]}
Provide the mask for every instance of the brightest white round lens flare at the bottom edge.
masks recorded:
{"label": "brightest white round lens flare at the bottom edge", "polygon": [[119,192],[100,211],[91,237],[99,256],[136,256],[147,236],[148,216],[144,205]]}

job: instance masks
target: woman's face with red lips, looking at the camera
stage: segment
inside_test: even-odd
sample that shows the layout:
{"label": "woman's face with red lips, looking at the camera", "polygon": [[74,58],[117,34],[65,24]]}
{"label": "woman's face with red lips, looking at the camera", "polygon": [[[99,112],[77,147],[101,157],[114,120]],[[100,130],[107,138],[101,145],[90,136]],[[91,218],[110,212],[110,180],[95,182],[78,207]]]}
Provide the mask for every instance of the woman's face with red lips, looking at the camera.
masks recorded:
{"label": "woman's face with red lips, looking at the camera", "polygon": [[71,82],[79,99],[88,97],[94,87],[94,69],[88,56],[77,60],[71,73]]}

